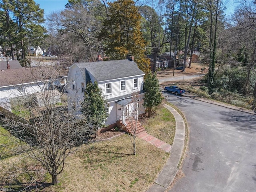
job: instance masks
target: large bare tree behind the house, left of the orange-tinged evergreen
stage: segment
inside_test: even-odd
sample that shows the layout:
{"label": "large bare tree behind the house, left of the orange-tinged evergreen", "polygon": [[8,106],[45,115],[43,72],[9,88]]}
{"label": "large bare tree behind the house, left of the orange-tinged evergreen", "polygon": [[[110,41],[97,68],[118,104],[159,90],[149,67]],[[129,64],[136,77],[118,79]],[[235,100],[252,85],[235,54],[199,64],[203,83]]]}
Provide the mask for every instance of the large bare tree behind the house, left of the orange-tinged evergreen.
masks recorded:
{"label": "large bare tree behind the house, left of the orange-tinged evergreen", "polygon": [[100,1],[91,1],[88,4],[83,2],[73,2],[65,10],[52,13],[48,17],[48,27],[56,37],[67,34],[74,42],[82,42],[76,49],[76,54],[80,58],[93,61],[96,60],[94,55],[101,48],[100,41],[96,38],[100,28],[100,16],[96,10],[102,4]]}

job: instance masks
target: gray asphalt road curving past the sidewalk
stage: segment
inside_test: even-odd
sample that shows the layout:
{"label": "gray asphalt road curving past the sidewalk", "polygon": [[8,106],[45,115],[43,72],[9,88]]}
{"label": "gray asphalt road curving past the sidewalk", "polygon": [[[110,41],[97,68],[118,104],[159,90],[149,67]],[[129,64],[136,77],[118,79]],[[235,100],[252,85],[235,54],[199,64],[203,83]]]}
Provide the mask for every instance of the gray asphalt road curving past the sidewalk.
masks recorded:
{"label": "gray asphalt road curving past the sidewalk", "polygon": [[189,144],[185,174],[170,192],[255,192],[256,116],[163,92],[185,115]]}

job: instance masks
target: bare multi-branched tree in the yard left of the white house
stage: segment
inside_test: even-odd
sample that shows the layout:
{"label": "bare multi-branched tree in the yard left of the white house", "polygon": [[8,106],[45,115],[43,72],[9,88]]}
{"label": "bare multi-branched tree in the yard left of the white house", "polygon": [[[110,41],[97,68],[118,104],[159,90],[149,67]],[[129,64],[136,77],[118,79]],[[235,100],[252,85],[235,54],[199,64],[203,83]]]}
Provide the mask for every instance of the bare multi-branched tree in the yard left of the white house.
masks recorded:
{"label": "bare multi-branched tree in the yard left of the white house", "polygon": [[52,176],[52,184],[56,184],[66,158],[88,142],[90,122],[86,120],[86,111],[83,116],[75,116],[80,109],[68,111],[61,102],[65,93],[54,84],[59,76],[57,70],[50,66],[30,70],[26,75],[33,78],[38,91],[13,99],[14,113],[1,108],[1,124],[29,146],[29,150],[20,150],[40,162]]}

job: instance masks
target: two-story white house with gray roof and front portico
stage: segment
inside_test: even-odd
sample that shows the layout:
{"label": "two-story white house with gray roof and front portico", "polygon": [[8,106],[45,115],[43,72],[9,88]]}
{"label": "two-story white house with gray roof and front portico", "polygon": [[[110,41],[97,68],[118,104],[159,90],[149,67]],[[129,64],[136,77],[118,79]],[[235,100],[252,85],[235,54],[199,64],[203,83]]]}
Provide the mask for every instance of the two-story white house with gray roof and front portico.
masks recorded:
{"label": "two-story white house with gray roof and front portico", "polygon": [[[126,124],[126,118],[132,113],[134,107],[138,107],[139,114],[145,112],[142,104],[135,104],[132,100],[134,93],[138,93],[138,100],[142,101],[144,72],[132,60],[112,60],[99,62],[74,63],[70,66],[68,73],[68,94],[69,109],[74,106],[71,98],[76,98],[76,107],[84,100],[84,91],[88,82],[98,82],[99,88],[106,96],[109,114],[105,124],[109,128],[121,120]],[[137,105],[137,106],[136,106]]]}

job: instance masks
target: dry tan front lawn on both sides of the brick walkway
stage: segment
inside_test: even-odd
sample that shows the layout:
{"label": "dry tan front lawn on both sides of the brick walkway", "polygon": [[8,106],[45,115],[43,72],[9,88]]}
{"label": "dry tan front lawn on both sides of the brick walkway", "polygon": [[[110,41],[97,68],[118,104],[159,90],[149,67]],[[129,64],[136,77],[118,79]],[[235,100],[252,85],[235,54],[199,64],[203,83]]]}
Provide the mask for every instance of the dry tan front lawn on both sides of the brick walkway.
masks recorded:
{"label": "dry tan front lawn on both sides of the brick walkway", "polygon": [[[145,125],[149,134],[156,133],[162,139],[166,138],[166,142],[172,143],[174,138],[170,137],[174,137],[175,121],[166,108],[161,107],[152,119],[146,119],[143,126]],[[166,134],[165,137],[164,134]],[[132,144],[127,134],[82,146],[78,152],[66,159],[64,171],[58,176],[59,183],[47,186],[41,191],[146,191],[154,184],[154,180],[170,154],[138,137],[136,138],[136,155],[132,153]],[[4,159],[1,164],[8,164],[0,168],[3,173],[0,178],[1,186],[8,187],[8,183],[11,183],[11,186],[15,186],[16,189],[28,186],[31,181],[29,177],[31,174],[24,174],[24,170],[17,168],[30,170],[40,168],[38,162],[34,162],[23,154]],[[15,175],[10,175],[14,170],[16,170]],[[37,171],[33,178],[44,186],[51,182],[51,177],[45,170]]]}

